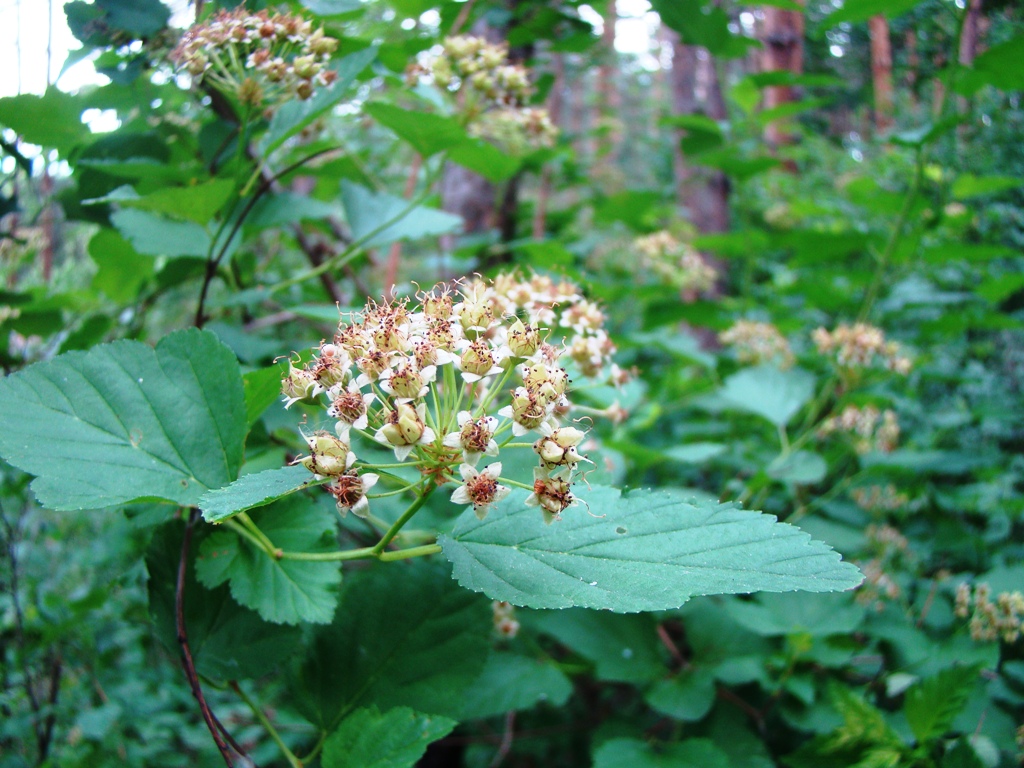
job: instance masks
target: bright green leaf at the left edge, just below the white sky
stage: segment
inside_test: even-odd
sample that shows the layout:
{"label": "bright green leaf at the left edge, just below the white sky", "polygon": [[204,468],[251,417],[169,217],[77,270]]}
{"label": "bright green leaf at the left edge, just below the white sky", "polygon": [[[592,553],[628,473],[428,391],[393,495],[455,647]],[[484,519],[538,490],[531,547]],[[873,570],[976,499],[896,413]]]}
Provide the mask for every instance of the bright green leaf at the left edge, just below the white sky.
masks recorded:
{"label": "bright green leaf at the left edge, just below the white sky", "polygon": [[41,96],[22,93],[0,98],[0,125],[29,143],[52,146],[67,156],[91,135],[82,124],[84,109],[78,96],[50,86]]}

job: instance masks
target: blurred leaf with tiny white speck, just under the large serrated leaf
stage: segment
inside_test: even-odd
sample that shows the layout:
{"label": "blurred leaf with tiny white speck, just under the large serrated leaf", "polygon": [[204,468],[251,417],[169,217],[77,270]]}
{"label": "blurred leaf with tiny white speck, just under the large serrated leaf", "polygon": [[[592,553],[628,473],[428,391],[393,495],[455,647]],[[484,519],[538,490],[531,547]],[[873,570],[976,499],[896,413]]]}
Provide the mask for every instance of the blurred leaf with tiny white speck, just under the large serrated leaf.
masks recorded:
{"label": "blurred leaf with tiny white speck, just under the large serrated leaf", "polygon": [[598,680],[648,683],[665,673],[657,624],[649,615],[569,609],[530,620],[531,627],[591,659]]}

